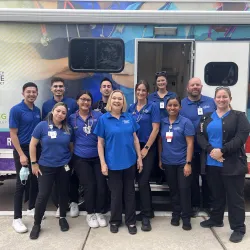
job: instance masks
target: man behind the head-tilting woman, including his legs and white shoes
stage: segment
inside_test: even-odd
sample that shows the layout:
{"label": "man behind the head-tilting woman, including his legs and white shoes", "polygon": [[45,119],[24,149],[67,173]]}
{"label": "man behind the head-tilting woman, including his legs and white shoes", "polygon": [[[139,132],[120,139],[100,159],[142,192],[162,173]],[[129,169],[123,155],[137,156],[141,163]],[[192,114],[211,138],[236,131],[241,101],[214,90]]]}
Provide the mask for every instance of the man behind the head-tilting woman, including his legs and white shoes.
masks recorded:
{"label": "man behind the head-tilting woman, including his legs and white shoes", "polygon": [[[78,110],[78,105],[76,101],[72,98],[68,98],[64,96],[65,93],[65,85],[64,79],[60,77],[53,77],[51,79],[51,92],[53,93],[53,97],[48,101],[43,103],[42,106],[42,118],[45,119],[46,116],[51,112],[53,106],[58,102],[63,102],[67,105],[67,118],[74,114]],[[71,165],[71,164],[70,164]],[[79,215],[79,208],[78,208],[78,187],[79,187],[79,180],[76,177],[74,171],[72,171],[70,177],[70,187],[69,187],[69,198],[70,198],[70,216],[77,217]],[[56,205],[58,204],[58,193],[59,190],[53,189],[53,199]],[[56,211],[56,217],[60,216],[60,208],[58,207]]]}

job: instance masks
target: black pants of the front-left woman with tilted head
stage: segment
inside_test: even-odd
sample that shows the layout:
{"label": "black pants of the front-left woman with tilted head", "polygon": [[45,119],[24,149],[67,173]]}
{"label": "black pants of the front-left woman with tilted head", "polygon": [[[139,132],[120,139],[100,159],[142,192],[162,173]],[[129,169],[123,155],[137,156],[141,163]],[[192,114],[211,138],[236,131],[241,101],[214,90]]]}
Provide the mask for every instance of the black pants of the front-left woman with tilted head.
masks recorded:
{"label": "black pants of the front-left woman with tilted head", "polygon": [[40,225],[54,182],[59,190],[60,217],[66,217],[68,208],[69,177],[70,171],[64,166],[45,167],[39,166],[42,175],[38,177],[39,192],[35,207],[35,225]]}

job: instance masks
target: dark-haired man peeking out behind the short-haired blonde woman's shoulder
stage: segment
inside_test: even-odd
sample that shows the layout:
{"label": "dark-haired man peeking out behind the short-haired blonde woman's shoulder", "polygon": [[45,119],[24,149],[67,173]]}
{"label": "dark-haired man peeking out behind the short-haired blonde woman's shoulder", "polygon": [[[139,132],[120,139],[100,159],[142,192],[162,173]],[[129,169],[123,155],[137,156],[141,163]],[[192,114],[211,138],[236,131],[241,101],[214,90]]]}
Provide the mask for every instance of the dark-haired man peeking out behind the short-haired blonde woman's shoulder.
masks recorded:
{"label": "dark-haired man peeking out behind the short-haired blonde woman's shoulder", "polygon": [[100,92],[102,94],[102,99],[94,103],[92,108],[101,111],[103,114],[106,113],[106,105],[111,92],[113,91],[112,82],[108,78],[104,78],[100,84]]}

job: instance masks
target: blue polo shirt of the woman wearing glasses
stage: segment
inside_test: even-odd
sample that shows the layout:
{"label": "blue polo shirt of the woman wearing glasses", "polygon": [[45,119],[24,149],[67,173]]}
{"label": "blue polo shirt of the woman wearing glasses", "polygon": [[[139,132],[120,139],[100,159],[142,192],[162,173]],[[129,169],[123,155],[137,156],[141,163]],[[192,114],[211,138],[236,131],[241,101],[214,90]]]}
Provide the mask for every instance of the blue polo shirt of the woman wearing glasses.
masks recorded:
{"label": "blue polo shirt of the woman wearing glasses", "polygon": [[[98,157],[97,135],[93,134],[101,112],[92,110],[86,121],[82,119],[78,111],[69,117],[69,124],[73,128],[74,154],[82,158]],[[91,134],[83,131],[84,126],[91,127]]]}

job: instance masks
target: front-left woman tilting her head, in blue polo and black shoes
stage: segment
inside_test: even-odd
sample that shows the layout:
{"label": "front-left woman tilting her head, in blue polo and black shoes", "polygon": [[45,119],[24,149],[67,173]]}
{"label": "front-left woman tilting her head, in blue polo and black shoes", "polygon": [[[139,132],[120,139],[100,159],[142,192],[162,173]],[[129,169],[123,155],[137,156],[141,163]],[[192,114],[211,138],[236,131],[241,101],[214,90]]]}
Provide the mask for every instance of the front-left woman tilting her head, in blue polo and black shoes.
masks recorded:
{"label": "front-left woman tilting her head, in blue polo and black shoes", "polygon": [[[32,172],[38,178],[39,193],[36,199],[34,226],[30,233],[31,239],[39,237],[41,220],[51,194],[54,182],[59,193],[61,231],[68,231],[69,225],[66,217],[68,208],[68,191],[70,168],[68,163],[71,159],[73,147],[72,130],[67,124],[67,105],[58,102],[54,105],[46,121],[40,122],[32,134],[30,142],[30,159]],[[36,147],[42,145],[42,153],[37,162]]]}

